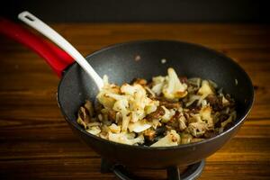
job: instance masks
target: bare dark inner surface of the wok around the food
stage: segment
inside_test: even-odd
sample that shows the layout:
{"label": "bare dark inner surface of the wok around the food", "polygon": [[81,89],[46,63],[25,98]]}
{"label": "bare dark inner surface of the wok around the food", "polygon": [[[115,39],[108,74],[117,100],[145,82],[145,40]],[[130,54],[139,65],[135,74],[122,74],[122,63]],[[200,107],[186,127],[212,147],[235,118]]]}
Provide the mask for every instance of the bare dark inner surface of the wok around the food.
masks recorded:
{"label": "bare dark inner surface of the wok around the food", "polygon": [[[121,85],[134,77],[151,79],[174,67],[178,76],[211,79],[237,102],[238,121],[253,103],[253,86],[245,71],[233,60],[202,46],[171,40],[145,40],[114,45],[86,58],[100,76]],[[164,60],[166,59],[166,63]],[[58,86],[58,103],[66,119],[76,123],[78,107],[94,101],[97,87],[81,67],[69,67]]]}

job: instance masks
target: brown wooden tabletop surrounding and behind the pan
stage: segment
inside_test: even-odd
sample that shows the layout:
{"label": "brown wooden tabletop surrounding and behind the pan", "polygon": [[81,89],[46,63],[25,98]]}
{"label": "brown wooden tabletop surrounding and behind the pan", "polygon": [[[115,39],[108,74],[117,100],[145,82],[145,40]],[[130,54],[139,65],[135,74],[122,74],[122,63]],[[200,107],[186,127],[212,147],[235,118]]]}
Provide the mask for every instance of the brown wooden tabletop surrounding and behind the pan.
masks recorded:
{"label": "brown wooden tabletop surrounding and behind the pan", "polygon": [[[84,55],[128,40],[184,40],[234,58],[256,87],[247,121],[206,159],[200,179],[270,179],[270,26],[258,24],[52,24]],[[0,37],[0,179],[115,179],[67,127],[56,100],[58,77],[29,49]],[[148,179],[165,170],[134,169]]]}

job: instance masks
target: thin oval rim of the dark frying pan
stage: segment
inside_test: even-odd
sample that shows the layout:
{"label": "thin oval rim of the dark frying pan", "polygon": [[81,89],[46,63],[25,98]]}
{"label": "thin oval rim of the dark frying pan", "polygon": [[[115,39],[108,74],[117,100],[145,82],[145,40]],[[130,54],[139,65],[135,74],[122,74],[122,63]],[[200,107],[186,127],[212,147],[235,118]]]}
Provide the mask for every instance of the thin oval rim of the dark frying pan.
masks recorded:
{"label": "thin oval rim of the dark frying pan", "polygon": [[[121,43],[116,43],[116,44],[112,44],[112,45],[108,45],[105,46],[103,49],[98,49],[96,51],[94,51],[93,53],[89,54],[86,56],[86,59],[91,58],[92,56],[94,56],[95,54],[101,53],[104,50],[108,50],[108,49],[113,49],[113,48],[117,48],[117,47],[121,47],[121,46],[126,46],[126,45],[131,45],[131,44],[139,44],[139,43],[149,43],[149,42],[170,42],[170,43],[182,43],[184,45],[189,45],[189,46],[193,46],[199,49],[204,49],[207,51],[210,51],[222,58],[226,58],[230,63],[234,64],[234,66],[238,67],[238,69],[241,71],[241,73],[243,74],[243,76],[245,76],[247,78],[248,81],[248,85],[249,88],[251,90],[251,97],[249,99],[249,101],[247,100],[247,109],[246,111],[243,113],[244,115],[242,115],[241,117],[238,117],[238,122],[235,123],[232,127],[229,128],[229,130],[225,130],[223,132],[221,132],[220,134],[218,134],[217,136],[214,136],[210,139],[203,139],[202,141],[199,142],[193,142],[193,143],[189,143],[189,144],[180,144],[177,146],[171,146],[171,147],[149,147],[149,146],[134,146],[134,145],[127,145],[127,144],[121,144],[118,142],[114,142],[111,140],[107,140],[107,139],[102,139],[98,136],[95,136],[93,134],[90,134],[88,132],[86,132],[85,130],[83,130],[81,127],[78,128],[77,124],[75,122],[73,122],[72,120],[69,120],[69,118],[67,117],[66,112],[64,111],[64,108],[62,106],[62,104],[60,103],[59,99],[60,99],[60,94],[57,94],[57,100],[58,100],[58,106],[60,108],[60,111],[62,112],[65,120],[67,121],[68,124],[71,124],[73,126],[73,128],[75,128],[76,130],[79,130],[81,133],[85,134],[88,138],[94,138],[96,140],[101,140],[104,143],[107,143],[109,145],[112,146],[120,146],[122,148],[133,148],[133,149],[140,149],[140,150],[169,150],[169,149],[178,149],[178,148],[190,148],[193,146],[199,146],[201,144],[204,143],[208,143],[210,141],[219,139],[220,137],[228,134],[231,130],[234,130],[235,128],[237,128],[238,126],[240,126],[240,124],[246,120],[247,115],[249,114],[249,112],[251,111],[254,101],[255,101],[255,92],[254,92],[254,87],[252,85],[252,81],[250,79],[250,77],[247,75],[247,72],[238,65],[237,62],[235,62],[232,58],[229,58],[228,56],[224,55],[223,53],[215,50],[215,49],[211,49],[208,47],[205,47],[201,44],[196,44],[196,43],[192,43],[192,42],[186,42],[186,41],[182,41],[182,40],[131,40],[131,41],[126,41],[126,42],[121,42]],[[58,83],[58,92],[59,89],[61,88],[62,82],[64,81],[64,79],[67,77],[68,71],[70,69],[70,67],[74,67],[76,66],[76,62],[72,63],[70,66],[68,66],[64,72],[63,72],[63,76],[60,79],[59,83]]]}

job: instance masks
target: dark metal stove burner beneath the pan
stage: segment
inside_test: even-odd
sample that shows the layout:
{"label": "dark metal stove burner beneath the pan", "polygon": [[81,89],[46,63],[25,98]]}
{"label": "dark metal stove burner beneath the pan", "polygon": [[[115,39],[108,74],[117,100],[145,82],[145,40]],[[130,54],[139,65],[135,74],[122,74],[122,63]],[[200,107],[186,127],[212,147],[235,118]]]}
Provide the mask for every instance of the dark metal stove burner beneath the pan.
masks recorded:
{"label": "dark metal stove burner beneath the pan", "polygon": [[[177,166],[171,166],[166,168],[166,175],[168,180],[193,180],[198,178],[202,174],[203,167],[205,166],[205,160],[197,162],[193,165],[187,166],[184,173],[181,173]],[[124,166],[119,164],[113,164],[106,159],[102,159],[101,173],[114,173],[121,180],[141,180],[143,178],[133,175]]]}

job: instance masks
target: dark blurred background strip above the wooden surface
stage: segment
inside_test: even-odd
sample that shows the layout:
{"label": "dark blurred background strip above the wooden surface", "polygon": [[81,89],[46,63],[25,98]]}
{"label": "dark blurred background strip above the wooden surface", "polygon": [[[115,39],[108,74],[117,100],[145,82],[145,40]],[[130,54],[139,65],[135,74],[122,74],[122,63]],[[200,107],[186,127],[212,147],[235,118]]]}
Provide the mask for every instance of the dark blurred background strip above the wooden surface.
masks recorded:
{"label": "dark blurred background strip above the wooden surface", "polygon": [[9,0],[1,14],[12,19],[24,10],[49,23],[180,22],[269,23],[262,0]]}

